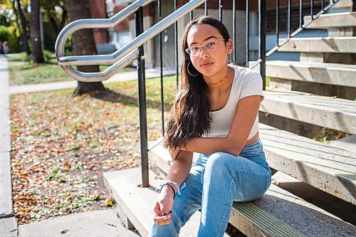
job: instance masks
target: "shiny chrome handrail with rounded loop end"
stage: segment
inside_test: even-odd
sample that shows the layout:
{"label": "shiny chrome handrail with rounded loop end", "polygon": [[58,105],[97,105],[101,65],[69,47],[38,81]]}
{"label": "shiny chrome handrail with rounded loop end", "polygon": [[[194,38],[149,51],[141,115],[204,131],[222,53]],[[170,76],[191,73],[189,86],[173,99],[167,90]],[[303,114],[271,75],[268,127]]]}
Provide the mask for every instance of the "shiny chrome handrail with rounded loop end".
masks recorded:
{"label": "shiny chrome handrail with rounded loop end", "polygon": [[[63,70],[75,78],[75,80],[80,80],[83,82],[98,82],[103,80],[108,80],[117,70],[125,68],[129,65],[132,60],[137,59],[139,52],[138,47],[146,43],[151,38],[155,37],[158,33],[164,31],[167,27],[172,25],[175,21],[180,19],[189,11],[196,9],[197,6],[203,4],[206,0],[193,0],[189,1],[184,6],[174,11],[169,16],[156,23],[150,29],[144,33],[137,36],[135,39],[127,43],[125,46],[115,51],[111,55],[96,55],[96,56],[63,56],[64,46],[66,40],[71,33],[78,31],[83,28],[109,28],[120,23],[125,17],[137,11],[140,6],[146,6],[154,0],[137,0],[134,3],[127,6],[125,9],[119,13],[112,16],[110,19],[80,19],[78,21],[73,21],[69,23],[61,33],[59,34],[56,41],[56,57],[58,64],[63,68]],[[73,65],[110,65],[108,69],[103,71],[103,73],[83,73],[74,69]]]}

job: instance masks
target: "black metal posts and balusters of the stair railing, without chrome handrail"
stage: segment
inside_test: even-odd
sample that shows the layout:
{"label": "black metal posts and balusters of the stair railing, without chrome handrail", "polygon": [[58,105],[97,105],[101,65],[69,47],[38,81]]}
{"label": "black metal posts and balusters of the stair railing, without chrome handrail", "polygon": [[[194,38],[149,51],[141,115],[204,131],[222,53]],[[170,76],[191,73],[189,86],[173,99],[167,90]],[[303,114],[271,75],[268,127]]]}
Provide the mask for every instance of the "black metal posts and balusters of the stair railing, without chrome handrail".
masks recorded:
{"label": "black metal posts and balusters of the stair railing, without chrome handrail", "polygon": [[[157,0],[157,14],[158,14],[158,21],[162,19],[162,1],[163,0]],[[326,11],[330,9],[331,6],[333,6],[335,3],[337,3],[339,0],[335,1],[330,1],[330,4],[326,4],[325,0],[323,1],[292,1],[288,0],[288,3],[286,5],[281,4],[280,0],[276,0],[276,5],[271,7],[271,6],[266,6],[266,1],[264,0],[258,0],[258,6],[256,7],[256,1],[249,1],[246,0],[245,8],[242,9],[245,11],[244,16],[245,16],[245,37],[246,37],[246,56],[245,56],[245,62],[243,63],[246,65],[246,67],[254,68],[256,65],[260,65],[260,73],[263,78],[263,90],[266,88],[266,58],[268,56],[271,56],[272,53],[276,52],[278,48],[283,46],[285,43],[287,43],[290,38],[293,38],[296,36],[298,33],[303,31],[303,29],[307,28],[307,26],[311,23],[310,22],[303,22],[303,17],[307,15],[312,16],[312,21],[317,19],[321,14],[324,14]],[[179,1],[180,2],[180,1]],[[165,1],[167,3],[167,1]],[[174,7],[172,8],[172,11],[175,11],[177,9],[177,0],[174,0]],[[219,0],[219,5],[216,9],[216,1],[205,1],[204,6],[199,7],[198,9],[191,11],[189,13],[189,19],[192,20],[194,18],[194,14],[196,11],[201,11],[204,10],[204,15],[212,14],[213,11],[218,12],[218,19],[220,21],[224,21],[224,23],[229,21],[229,18],[224,16],[224,10],[232,10],[232,39],[234,41],[234,48],[235,52],[232,56],[233,60],[236,61],[237,58],[237,53],[236,52],[236,33],[237,33],[237,14],[238,14],[238,5],[239,5],[239,13],[241,13],[241,4],[238,4],[238,1],[223,1]],[[254,9],[251,7],[251,5],[254,4]],[[209,8],[210,5],[213,5],[213,8]],[[274,8],[274,9],[273,9]],[[258,26],[251,26],[251,12],[252,11],[257,11],[258,12]],[[276,11],[276,21],[274,25],[272,26],[271,23],[270,25],[267,26],[268,22],[266,21],[266,11]],[[282,11],[286,11],[286,16],[281,16]],[[297,14],[295,14],[295,11],[298,11]],[[298,19],[295,19],[295,16],[298,16]],[[142,20],[140,20],[142,21]],[[281,27],[284,26],[284,27]],[[175,69],[175,76],[176,76],[176,86],[178,88],[179,85],[179,48],[178,46],[178,38],[182,37],[179,36],[178,34],[178,23],[177,21],[174,23],[174,69]],[[239,26],[241,27],[241,26]],[[251,60],[251,27],[258,27],[258,58],[254,58],[253,62],[250,62]],[[271,48],[269,51],[266,51],[266,28],[274,28],[274,33],[276,35],[276,46]],[[286,38],[281,38],[281,33],[286,33],[287,37]],[[273,33],[272,31],[268,32],[270,35]],[[162,120],[162,137],[164,137],[164,127],[165,127],[165,122],[164,122],[164,76],[163,76],[163,69],[164,69],[164,53],[162,52],[162,33],[159,33],[159,64],[157,63],[157,66],[160,68],[160,88],[159,91],[161,93],[160,98],[161,98],[161,120]],[[139,59],[141,60],[141,59]],[[144,61],[144,60],[143,60]],[[137,70],[139,72],[139,88],[140,88],[140,97],[145,96],[145,73],[142,73],[142,70],[145,70],[143,67],[145,65],[144,62],[138,64]],[[141,88],[143,87],[143,88]],[[141,152],[142,152],[142,186],[147,186],[148,185],[148,162],[147,162],[147,116],[145,113],[145,100],[143,98],[140,98],[140,125],[142,125],[141,129]],[[161,139],[162,140],[162,139]],[[158,144],[158,142],[155,142],[155,144]],[[150,147],[152,148],[152,147]],[[147,177],[147,178],[145,178]]]}

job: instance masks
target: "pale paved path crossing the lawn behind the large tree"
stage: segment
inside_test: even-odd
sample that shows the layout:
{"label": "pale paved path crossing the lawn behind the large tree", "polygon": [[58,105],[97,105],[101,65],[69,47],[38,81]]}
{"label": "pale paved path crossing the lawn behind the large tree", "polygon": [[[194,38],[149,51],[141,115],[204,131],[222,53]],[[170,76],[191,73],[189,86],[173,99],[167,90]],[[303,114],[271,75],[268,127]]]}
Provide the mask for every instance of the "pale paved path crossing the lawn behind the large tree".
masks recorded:
{"label": "pale paved path crossing the lawn behind the large tree", "polygon": [[[173,70],[164,70],[163,75],[174,75],[175,71]],[[146,69],[146,78],[157,78],[160,76],[159,68],[150,68]],[[126,81],[126,80],[137,80],[137,71],[132,70],[127,73],[117,73],[113,75],[109,80],[103,81],[103,83],[112,83],[116,81]],[[63,90],[75,88],[77,86],[76,80],[56,82],[56,83],[41,83],[33,85],[16,85],[11,86],[10,94],[19,94],[19,93],[33,93],[47,90]]]}

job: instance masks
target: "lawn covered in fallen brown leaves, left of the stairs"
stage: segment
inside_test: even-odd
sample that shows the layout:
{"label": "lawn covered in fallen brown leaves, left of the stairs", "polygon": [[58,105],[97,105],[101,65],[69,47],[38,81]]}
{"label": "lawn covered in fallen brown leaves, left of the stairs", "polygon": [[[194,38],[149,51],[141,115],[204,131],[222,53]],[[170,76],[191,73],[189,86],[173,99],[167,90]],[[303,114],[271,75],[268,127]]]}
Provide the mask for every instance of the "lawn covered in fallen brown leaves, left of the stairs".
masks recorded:
{"label": "lawn covered in fallen brown leaves, left of the stairs", "polygon": [[[175,78],[164,79],[165,117]],[[19,224],[110,208],[103,172],[140,165],[137,82],[102,94],[73,90],[11,96],[14,213]],[[159,79],[147,80],[148,139],[162,130]]]}

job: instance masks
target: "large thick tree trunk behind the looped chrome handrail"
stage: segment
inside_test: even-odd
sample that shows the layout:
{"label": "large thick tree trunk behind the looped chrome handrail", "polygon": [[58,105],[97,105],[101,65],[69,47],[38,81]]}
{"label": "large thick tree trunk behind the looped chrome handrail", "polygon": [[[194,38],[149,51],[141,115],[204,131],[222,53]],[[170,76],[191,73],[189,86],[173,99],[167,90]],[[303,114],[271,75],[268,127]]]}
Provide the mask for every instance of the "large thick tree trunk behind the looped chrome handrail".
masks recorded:
{"label": "large thick tree trunk behind the looped chrome handrail", "polygon": [[[89,19],[90,9],[88,0],[67,0],[68,19],[70,22],[78,19]],[[73,33],[73,48],[77,56],[95,55],[96,46],[94,42],[93,30],[84,29]],[[78,66],[78,70],[85,73],[93,73],[99,71],[98,65]],[[78,86],[75,88],[73,95],[83,95],[93,91],[106,90],[103,83],[83,83],[78,81]]]}

